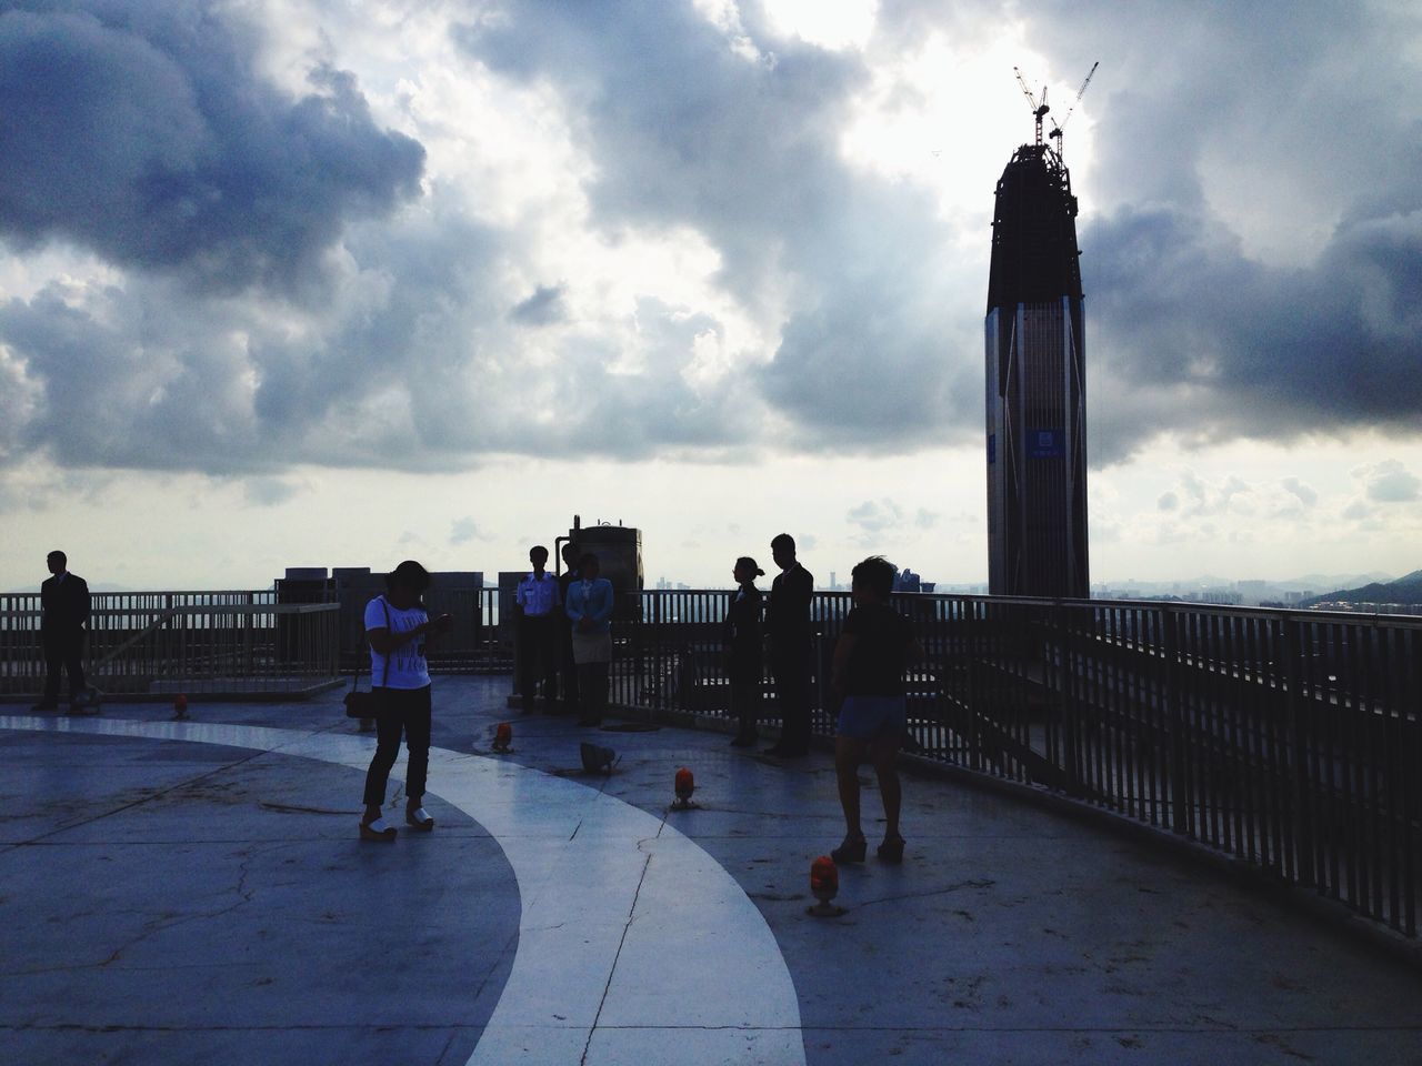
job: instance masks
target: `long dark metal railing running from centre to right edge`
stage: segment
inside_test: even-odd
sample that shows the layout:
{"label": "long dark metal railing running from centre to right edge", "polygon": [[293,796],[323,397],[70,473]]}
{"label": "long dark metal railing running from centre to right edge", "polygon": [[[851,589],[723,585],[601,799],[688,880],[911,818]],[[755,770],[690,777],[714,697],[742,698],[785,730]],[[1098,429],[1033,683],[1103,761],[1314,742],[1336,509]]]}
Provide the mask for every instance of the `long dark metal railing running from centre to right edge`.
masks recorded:
{"label": "long dark metal railing running from centre to right edge", "polygon": [[[728,593],[644,593],[611,699],[727,716]],[[849,610],[813,601],[813,729]],[[927,662],[906,746],[1075,797],[1418,937],[1422,618],[1142,601],[904,596]],[[771,685],[764,722],[775,722]]]}

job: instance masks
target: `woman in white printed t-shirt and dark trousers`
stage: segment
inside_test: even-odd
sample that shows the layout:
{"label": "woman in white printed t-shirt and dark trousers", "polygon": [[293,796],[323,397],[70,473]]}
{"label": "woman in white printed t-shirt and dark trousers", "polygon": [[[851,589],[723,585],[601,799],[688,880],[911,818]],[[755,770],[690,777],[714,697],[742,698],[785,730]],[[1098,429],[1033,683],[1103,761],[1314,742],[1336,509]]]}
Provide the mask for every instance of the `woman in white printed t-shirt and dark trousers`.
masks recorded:
{"label": "woman in white printed t-shirt and dark trousers", "polygon": [[448,614],[432,620],[419,597],[429,587],[429,571],[407,559],[385,574],[385,594],[365,604],[365,640],[370,641],[370,677],[380,696],[375,719],[375,758],[365,772],[365,814],[361,840],[394,840],[395,827],[381,816],[385,783],[405,738],[410,768],[405,772],[405,822],[431,830],[435,820],[424,809],[425,775],[429,770],[429,664],[425,644],[449,628]]}

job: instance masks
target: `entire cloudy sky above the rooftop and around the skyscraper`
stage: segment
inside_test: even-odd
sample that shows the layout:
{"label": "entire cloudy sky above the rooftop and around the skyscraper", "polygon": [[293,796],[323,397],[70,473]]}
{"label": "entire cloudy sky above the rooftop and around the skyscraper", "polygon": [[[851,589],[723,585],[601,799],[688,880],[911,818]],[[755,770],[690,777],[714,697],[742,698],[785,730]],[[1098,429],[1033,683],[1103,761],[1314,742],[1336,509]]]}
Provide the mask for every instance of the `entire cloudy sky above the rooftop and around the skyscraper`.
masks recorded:
{"label": "entire cloudy sky above the rooftop and around the skyscraper", "polygon": [[1048,85],[1094,580],[1422,566],[1422,9],[0,4],[0,588],[502,570],[574,513],[985,580],[993,186]]}

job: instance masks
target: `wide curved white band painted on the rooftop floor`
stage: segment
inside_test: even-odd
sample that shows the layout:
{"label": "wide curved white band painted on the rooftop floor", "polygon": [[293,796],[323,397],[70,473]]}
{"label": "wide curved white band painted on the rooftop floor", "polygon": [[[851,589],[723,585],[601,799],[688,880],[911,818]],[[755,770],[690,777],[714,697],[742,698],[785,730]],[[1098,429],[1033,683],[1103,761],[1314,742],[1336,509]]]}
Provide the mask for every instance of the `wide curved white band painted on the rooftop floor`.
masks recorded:
{"label": "wide curved white band painted on the rooftop floor", "polygon": [[[215,743],[357,770],[371,756],[368,738],[212,722],[9,715],[0,729]],[[513,762],[434,748],[429,779],[503,849],[522,904],[513,967],[469,1063],[802,1066],[799,1001],[775,937],[693,840]]]}

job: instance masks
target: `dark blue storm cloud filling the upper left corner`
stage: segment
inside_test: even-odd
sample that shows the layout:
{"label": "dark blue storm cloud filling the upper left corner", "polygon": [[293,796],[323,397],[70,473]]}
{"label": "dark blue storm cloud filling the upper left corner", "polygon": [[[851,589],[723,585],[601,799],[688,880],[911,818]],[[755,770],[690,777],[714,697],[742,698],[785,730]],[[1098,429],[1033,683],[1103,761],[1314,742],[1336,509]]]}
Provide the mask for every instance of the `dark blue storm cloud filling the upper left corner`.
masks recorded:
{"label": "dark blue storm cloud filling the upper left corner", "polygon": [[237,289],[300,279],[351,217],[418,190],[424,149],[354,78],[292,99],[215,4],[18,3],[0,13],[0,233]]}

